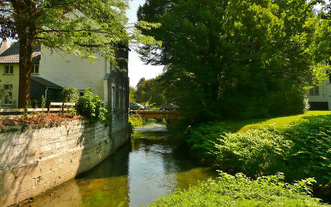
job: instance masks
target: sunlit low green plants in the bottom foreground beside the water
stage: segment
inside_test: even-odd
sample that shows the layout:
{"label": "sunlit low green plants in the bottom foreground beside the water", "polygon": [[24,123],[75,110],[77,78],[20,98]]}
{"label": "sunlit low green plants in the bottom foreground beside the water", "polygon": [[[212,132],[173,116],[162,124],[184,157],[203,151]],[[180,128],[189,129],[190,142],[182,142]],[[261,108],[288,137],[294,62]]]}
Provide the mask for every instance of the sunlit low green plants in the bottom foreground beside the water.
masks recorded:
{"label": "sunlit low green plants in the bottom foreground beside the water", "polygon": [[284,182],[281,173],[256,180],[241,173],[220,175],[188,190],[175,190],[150,206],[328,206],[306,195],[314,179],[291,185]]}

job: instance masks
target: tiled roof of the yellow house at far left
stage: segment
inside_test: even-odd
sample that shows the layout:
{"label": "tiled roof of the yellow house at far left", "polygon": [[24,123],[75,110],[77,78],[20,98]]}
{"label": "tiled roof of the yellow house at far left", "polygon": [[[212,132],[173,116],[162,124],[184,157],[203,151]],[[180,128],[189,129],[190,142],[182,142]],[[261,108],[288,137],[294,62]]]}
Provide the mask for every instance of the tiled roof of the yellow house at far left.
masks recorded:
{"label": "tiled roof of the yellow house at far left", "polygon": [[[41,47],[34,46],[32,53],[32,62],[39,63],[41,57]],[[0,54],[0,63],[19,63],[19,41],[15,42]]]}

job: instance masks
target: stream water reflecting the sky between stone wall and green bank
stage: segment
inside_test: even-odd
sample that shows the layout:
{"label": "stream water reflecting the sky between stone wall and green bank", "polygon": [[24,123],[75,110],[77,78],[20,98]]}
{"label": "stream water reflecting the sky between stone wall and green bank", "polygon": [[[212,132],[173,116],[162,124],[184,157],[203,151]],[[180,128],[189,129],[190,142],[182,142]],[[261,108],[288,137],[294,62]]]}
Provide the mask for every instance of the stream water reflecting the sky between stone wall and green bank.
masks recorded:
{"label": "stream water reflecting the sky between stone wall and green bank", "polygon": [[[34,198],[30,206],[147,206],[175,188],[215,177],[187,151],[170,144],[162,124],[147,124],[101,164]],[[28,206],[27,205],[27,206]]]}

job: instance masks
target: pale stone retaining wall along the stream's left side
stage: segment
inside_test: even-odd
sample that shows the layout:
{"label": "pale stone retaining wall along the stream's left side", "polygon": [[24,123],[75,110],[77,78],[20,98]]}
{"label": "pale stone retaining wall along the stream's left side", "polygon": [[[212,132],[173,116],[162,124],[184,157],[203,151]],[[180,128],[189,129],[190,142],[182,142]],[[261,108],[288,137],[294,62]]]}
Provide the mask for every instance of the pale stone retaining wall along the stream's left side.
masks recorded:
{"label": "pale stone retaining wall along the stream's left side", "polygon": [[1,206],[17,204],[90,170],[126,143],[123,126],[110,133],[103,124],[75,120],[54,128],[0,133]]}

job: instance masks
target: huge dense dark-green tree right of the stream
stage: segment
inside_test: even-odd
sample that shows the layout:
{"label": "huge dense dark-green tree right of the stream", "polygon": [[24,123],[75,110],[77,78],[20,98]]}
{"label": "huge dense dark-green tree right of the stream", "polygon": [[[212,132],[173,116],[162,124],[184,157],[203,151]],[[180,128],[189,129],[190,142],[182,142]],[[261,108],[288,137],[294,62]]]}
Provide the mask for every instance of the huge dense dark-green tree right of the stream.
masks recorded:
{"label": "huge dense dark-green tree right of the stream", "polygon": [[302,112],[312,82],[314,3],[271,0],[148,0],[143,30],[162,47],[141,47],[141,59],[169,65],[163,79],[191,122]]}

